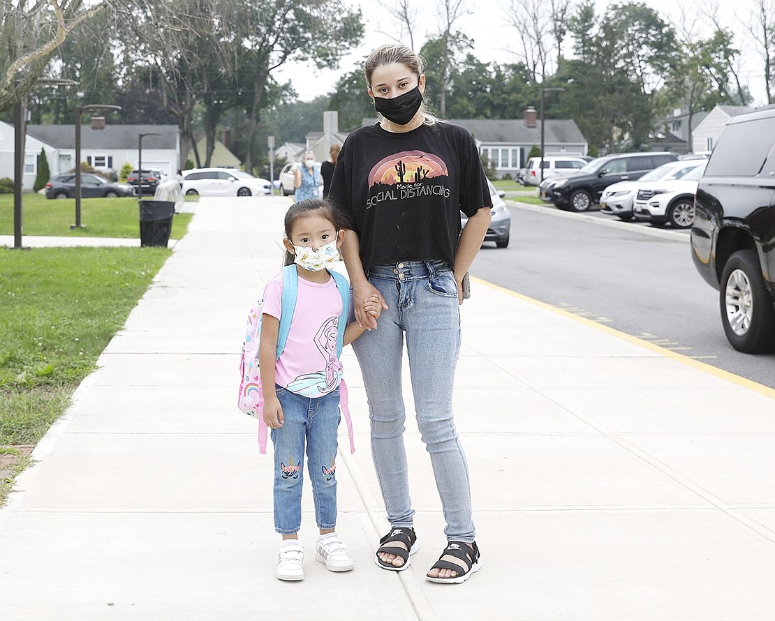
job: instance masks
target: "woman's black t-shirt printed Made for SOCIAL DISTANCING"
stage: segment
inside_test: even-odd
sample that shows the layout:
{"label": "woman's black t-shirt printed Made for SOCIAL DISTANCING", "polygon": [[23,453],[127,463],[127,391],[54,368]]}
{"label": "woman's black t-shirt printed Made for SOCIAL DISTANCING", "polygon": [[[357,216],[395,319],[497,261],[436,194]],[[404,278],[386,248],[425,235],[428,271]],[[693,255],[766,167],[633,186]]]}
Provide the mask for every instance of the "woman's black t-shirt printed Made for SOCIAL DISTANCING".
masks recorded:
{"label": "woman's black t-shirt printed Made for SOCIAL DISTANCING", "polygon": [[402,133],[356,129],[339,152],[329,199],[360,237],[364,269],[401,260],[451,266],[460,211],[492,205],[474,139],[443,122]]}

